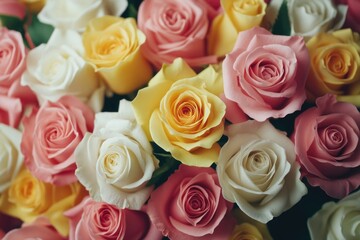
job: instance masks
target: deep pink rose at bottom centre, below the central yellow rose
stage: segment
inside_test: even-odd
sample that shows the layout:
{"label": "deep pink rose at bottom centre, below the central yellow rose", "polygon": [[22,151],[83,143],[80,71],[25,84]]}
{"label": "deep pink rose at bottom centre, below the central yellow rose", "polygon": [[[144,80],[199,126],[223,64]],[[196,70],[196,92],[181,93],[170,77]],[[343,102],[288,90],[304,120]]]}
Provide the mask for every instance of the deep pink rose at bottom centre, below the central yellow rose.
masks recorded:
{"label": "deep pink rose at bottom centre, below the central yellow rose", "polygon": [[235,221],[229,214],[215,170],[180,165],[152,192],[147,212],[170,239],[228,239]]}

